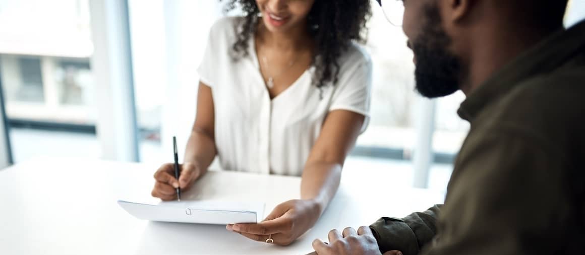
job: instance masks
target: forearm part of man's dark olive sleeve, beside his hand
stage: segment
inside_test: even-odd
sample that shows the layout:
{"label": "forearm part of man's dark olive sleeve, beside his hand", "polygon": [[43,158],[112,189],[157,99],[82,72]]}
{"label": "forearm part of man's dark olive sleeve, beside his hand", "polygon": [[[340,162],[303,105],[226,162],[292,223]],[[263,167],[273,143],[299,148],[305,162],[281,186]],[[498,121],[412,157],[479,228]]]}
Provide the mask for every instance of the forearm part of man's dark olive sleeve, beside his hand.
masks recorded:
{"label": "forearm part of man's dark olive sleeve, beside his hand", "polygon": [[431,242],[436,233],[436,219],[441,205],[425,212],[415,212],[405,218],[381,218],[370,226],[381,253],[400,250],[404,255],[416,255]]}

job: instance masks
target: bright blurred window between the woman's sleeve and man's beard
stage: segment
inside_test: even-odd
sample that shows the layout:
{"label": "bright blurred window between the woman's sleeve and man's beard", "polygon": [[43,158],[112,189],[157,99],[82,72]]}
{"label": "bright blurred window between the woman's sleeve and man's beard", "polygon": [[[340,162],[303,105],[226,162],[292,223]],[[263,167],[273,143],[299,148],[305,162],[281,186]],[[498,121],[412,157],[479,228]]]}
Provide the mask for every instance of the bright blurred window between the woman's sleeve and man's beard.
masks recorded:
{"label": "bright blurred window between the woman's sleeve and man's beard", "polygon": [[[366,49],[373,61],[371,122],[359,137],[354,154],[409,159],[417,140],[418,98],[412,51],[406,47],[402,27],[389,23],[372,4]],[[449,163],[459,151],[469,128],[456,111],[463,94],[436,99],[433,150],[435,160]]]}

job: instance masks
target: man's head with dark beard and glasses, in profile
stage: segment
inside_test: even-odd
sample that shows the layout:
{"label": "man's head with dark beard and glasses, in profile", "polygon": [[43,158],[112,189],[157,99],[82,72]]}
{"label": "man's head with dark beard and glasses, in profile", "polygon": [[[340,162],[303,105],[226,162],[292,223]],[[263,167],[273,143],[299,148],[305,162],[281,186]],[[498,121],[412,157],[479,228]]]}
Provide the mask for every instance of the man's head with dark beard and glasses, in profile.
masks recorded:
{"label": "man's head with dark beard and glasses, in profile", "polygon": [[[425,97],[452,94],[469,85],[470,64],[562,27],[567,0],[404,0],[402,28],[415,55],[417,90]],[[498,44],[498,47],[500,46]],[[494,56],[505,58],[510,56]],[[481,61],[481,60],[480,60]],[[477,67],[476,67],[477,69]],[[484,68],[485,69],[485,68]]]}

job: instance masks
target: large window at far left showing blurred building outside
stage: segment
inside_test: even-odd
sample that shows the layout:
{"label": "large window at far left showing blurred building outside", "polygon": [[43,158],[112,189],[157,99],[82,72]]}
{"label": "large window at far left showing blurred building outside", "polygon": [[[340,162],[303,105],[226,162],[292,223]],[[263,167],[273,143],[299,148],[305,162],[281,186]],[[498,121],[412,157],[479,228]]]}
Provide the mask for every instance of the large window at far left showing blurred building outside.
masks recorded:
{"label": "large window at far left showing blurred building outside", "polygon": [[0,79],[15,161],[99,157],[89,0],[0,6]]}

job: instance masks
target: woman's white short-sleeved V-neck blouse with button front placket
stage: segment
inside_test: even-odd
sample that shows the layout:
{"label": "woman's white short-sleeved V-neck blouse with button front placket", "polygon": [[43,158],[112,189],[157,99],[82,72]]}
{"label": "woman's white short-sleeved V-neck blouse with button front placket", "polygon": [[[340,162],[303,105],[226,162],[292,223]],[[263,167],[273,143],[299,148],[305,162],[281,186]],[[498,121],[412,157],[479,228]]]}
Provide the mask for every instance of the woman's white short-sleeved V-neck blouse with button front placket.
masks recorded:
{"label": "woman's white short-sleeved V-neck blouse with button front placket", "polygon": [[234,59],[232,45],[241,17],[218,20],[209,33],[199,79],[211,87],[215,145],[222,169],[300,176],[328,112],[366,116],[369,122],[371,60],[359,46],[339,60],[338,84],[325,84],[323,98],[311,83],[314,67],[270,99],[254,50]]}

